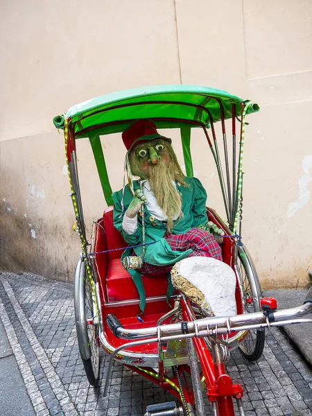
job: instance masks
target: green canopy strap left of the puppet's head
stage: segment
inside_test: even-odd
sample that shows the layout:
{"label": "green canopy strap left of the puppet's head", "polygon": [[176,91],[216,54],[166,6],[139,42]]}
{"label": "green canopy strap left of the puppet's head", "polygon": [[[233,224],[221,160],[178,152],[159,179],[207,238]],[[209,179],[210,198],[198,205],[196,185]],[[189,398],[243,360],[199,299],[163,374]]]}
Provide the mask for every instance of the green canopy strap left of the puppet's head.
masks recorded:
{"label": "green canopy strap left of the puppet's head", "polygon": [[98,169],[98,176],[100,177],[104,198],[107,203],[107,206],[109,207],[110,205],[113,205],[112,188],[110,187],[110,180],[108,179],[105,157],[101,145],[100,136],[97,134],[90,135],[89,141],[96,162],[96,168]]}

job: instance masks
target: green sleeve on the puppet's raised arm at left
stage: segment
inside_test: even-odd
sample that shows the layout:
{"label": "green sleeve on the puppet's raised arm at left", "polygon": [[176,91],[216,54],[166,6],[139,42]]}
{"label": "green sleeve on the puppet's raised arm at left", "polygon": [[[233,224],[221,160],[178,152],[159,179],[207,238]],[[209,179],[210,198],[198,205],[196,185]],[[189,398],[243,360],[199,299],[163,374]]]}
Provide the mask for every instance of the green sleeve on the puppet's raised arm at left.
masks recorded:
{"label": "green sleeve on the puppet's raised arm at left", "polygon": [[[118,229],[118,231],[122,234],[123,239],[129,245],[137,245],[142,243],[142,227],[141,224],[137,223],[137,231],[134,234],[126,234],[123,231],[123,216],[125,215],[125,211],[128,209],[130,202],[127,203],[129,200],[129,196],[127,193],[127,188],[125,189],[125,193],[123,195],[122,190],[118,192],[112,193],[112,198],[114,200],[114,227]],[[121,198],[123,198],[123,207],[121,205]],[[130,196],[130,200],[131,200]]]}

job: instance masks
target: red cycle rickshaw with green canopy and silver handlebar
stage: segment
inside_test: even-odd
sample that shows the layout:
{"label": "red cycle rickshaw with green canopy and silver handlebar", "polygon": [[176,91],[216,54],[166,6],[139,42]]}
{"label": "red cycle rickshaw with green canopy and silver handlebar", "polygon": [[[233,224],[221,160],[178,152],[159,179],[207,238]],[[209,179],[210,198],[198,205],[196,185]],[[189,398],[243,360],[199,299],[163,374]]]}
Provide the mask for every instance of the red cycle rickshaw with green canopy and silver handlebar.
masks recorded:
{"label": "red cycle rickshaw with green canopy and silver handlebar", "polygon": [[[265,328],[312,321],[302,318],[312,310],[311,289],[304,306],[284,311],[277,311],[275,299],[262,297],[254,263],[241,239],[245,117],[257,111],[256,103],[218,89],[164,85],[93,98],[53,120],[56,128],[64,130],[71,200],[82,246],[74,279],[80,357],[89,383],[96,385],[99,348],[110,355],[104,395],[112,365],[119,361],[176,397],[176,401],[148,406],[146,415],[205,415],[205,396],[213,415],[234,415],[233,399],[243,415],[243,388],[225,370],[229,351],[238,347],[245,358],[257,361]],[[171,280],[166,275],[142,276],[144,313],[128,268],[144,260],[146,243],[143,240],[141,255],[121,263],[128,245],[114,228],[112,189],[101,144],[101,136],[122,133],[138,119],[152,120],[160,131],[180,131],[187,177],[193,177],[191,132],[202,131],[216,164],[226,216],[223,219],[207,207],[210,230],[223,240],[223,261],[187,257],[173,266]],[[103,215],[99,213],[94,221],[90,240],[76,155],[76,140],[83,138],[92,146],[107,202]],[[132,185],[128,177],[124,188],[133,191]],[[144,228],[146,207],[140,215]],[[171,283],[175,290],[169,294]]]}

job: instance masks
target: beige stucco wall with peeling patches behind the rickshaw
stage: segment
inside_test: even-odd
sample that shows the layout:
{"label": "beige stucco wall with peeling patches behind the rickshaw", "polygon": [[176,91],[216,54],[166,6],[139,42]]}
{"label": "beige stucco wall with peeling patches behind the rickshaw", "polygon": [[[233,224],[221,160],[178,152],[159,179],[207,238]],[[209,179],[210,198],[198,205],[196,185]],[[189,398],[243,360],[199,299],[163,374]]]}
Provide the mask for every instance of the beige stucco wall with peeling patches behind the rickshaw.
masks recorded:
{"label": "beige stucco wall with peeling patches behind the rickshaw", "polygon": [[[263,288],[308,283],[311,1],[3,0],[0,23],[2,268],[73,279],[80,244],[53,116],[120,89],[190,83],[259,103],[246,130],[243,239]],[[116,190],[124,153],[118,137],[103,144]],[[176,137],[174,145],[182,161]],[[202,137],[192,152],[218,208]],[[87,141],[78,141],[78,159],[89,232],[105,200]]]}

